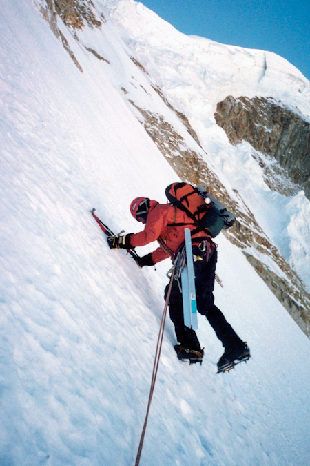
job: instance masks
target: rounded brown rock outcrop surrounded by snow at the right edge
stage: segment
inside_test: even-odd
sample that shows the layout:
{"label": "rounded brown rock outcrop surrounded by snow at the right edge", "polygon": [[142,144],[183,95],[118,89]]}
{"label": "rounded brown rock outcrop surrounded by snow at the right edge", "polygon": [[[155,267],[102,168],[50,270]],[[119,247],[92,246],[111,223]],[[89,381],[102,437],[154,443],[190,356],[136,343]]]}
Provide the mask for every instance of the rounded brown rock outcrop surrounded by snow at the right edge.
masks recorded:
{"label": "rounded brown rock outcrop surrounded by snow at the right edge", "polygon": [[271,97],[226,97],[214,115],[229,142],[249,142],[274,157],[310,199],[310,122]]}

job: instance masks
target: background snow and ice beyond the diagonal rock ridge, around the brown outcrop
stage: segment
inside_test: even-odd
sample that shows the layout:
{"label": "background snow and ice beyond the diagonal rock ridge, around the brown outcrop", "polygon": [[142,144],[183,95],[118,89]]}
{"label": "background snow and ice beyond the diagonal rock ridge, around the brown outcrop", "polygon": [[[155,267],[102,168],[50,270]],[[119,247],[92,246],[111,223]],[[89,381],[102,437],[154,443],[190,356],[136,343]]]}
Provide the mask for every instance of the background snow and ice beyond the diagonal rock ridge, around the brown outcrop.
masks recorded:
{"label": "background snow and ice beyond the diagonal rock ridge, around the brown outcrop", "polygon": [[[310,201],[278,195],[265,183],[254,149],[231,146],[214,119],[229,95],[273,97],[310,118],[310,82],[278,55],[188,37],[133,0],[99,0],[132,55],[143,64],[169,101],[185,113],[223,184],[237,189],[262,229],[310,291]],[[298,112],[299,113],[299,112]],[[279,215],[280,213],[280,215]],[[278,219],[279,222],[270,222]],[[302,238],[302,241],[300,239]]]}

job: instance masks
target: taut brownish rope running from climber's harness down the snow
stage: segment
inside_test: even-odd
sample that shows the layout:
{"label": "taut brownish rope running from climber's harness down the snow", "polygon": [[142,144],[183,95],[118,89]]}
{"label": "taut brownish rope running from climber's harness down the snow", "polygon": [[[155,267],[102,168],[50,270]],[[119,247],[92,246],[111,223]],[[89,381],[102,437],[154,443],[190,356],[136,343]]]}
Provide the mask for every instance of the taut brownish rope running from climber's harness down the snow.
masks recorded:
{"label": "taut brownish rope running from climber's harness down the snow", "polygon": [[169,298],[170,298],[170,293],[171,293],[171,289],[172,289],[173,280],[174,280],[174,268],[172,269],[172,275],[171,275],[171,278],[170,278],[169,289],[168,289],[167,298],[166,298],[166,301],[165,301],[165,308],[163,310],[163,316],[161,318],[161,327],[159,329],[157,346],[156,346],[155,360],[154,360],[153,373],[152,373],[152,382],[151,382],[151,388],[149,390],[149,402],[147,403],[147,412],[146,412],[146,415],[145,415],[145,421],[144,421],[142,434],[141,434],[141,438],[140,438],[140,444],[139,444],[139,447],[138,447],[138,454],[136,456],[136,463],[134,463],[134,466],[138,466],[139,463],[140,463],[141,452],[142,452],[144,436],[145,436],[145,430],[146,430],[146,427],[147,427],[147,420],[149,418],[149,408],[151,407],[151,402],[152,402],[152,397],[153,397],[154,387],[155,387],[155,382],[156,382],[156,376],[157,376],[157,371],[158,371],[158,365],[159,365],[159,358],[161,357],[161,347],[162,347],[162,344],[163,344],[163,332],[164,332],[164,329],[165,329],[167,307],[168,307],[168,303],[169,303]]}

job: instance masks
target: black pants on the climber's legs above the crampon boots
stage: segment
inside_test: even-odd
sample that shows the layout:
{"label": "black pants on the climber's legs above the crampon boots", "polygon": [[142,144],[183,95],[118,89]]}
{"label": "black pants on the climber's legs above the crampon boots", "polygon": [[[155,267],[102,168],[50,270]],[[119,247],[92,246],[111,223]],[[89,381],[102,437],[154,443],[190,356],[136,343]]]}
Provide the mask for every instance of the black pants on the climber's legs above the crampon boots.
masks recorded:
{"label": "black pants on the climber's legs above the crampon boots", "polygon": [[[207,244],[205,251],[200,251],[198,245],[193,244],[193,255],[202,258],[194,260],[196,300],[198,312],[205,315],[209,324],[214,329],[216,336],[222,342],[223,347],[236,347],[242,344],[234,329],[225,319],[223,313],[214,304],[214,280],[216,272],[217,251],[212,243]],[[167,296],[165,289],[165,297]],[[169,313],[176,331],[176,339],[189,349],[200,349],[200,344],[193,329],[184,325],[183,300],[178,282],[174,280],[169,298]]]}

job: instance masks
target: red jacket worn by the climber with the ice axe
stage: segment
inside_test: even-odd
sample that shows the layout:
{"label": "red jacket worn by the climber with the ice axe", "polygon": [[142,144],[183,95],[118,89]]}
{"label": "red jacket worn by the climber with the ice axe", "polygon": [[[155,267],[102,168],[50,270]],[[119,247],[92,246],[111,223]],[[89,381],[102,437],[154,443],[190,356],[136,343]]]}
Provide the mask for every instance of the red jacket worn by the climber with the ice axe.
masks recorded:
{"label": "red jacket worn by the climber with the ice axe", "polygon": [[[168,226],[170,223],[188,223],[189,225]],[[159,204],[157,201],[151,200],[144,230],[131,235],[130,244],[135,248],[158,240],[161,246],[152,252],[152,261],[156,264],[172,256],[169,254],[169,250],[174,254],[178,252],[181,244],[185,241],[185,228],[189,228],[191,231],[196,229],[193,220],[187,217],[185,212],[172,204]],[[193,237],[202,236],[206,237],[207,234],[200,231],[200,233],[193,235]],[[167,246],[167,250],[165,250],[165,246]]]}

